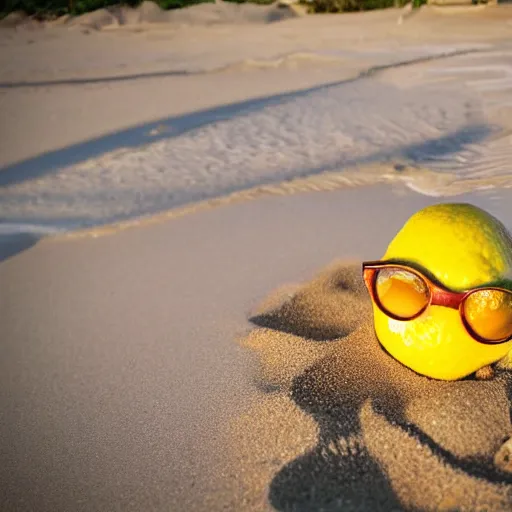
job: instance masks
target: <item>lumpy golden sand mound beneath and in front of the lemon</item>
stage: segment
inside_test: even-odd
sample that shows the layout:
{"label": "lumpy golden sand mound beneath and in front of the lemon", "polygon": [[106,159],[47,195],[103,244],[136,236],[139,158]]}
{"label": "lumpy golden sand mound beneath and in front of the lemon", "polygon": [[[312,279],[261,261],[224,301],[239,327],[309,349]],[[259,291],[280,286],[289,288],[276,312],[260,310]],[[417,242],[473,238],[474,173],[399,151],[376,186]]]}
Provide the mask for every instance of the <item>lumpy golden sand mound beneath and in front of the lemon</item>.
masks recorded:
{"label": "lumpy golden sand mound beneath and in front of the lemon", "polygon": [[242,345],[257,355],[256,380],[271,394],[265,411],[235,423],[240,456],[261,458],[243,447],[264,451],[261,436],[273,439],[282,415],[298,421],[297,438],[307,437],[306,420],[286,412],[285,398],[317,428],[315,446],[287,451],[288,440],[266,454],[274,508],[510,509],[512,475],[494,463],[512,431],[510,374],[441,382],[392,359],[374,335],[359,266],[337,265],[281,291],[252,321],[263,327]]}

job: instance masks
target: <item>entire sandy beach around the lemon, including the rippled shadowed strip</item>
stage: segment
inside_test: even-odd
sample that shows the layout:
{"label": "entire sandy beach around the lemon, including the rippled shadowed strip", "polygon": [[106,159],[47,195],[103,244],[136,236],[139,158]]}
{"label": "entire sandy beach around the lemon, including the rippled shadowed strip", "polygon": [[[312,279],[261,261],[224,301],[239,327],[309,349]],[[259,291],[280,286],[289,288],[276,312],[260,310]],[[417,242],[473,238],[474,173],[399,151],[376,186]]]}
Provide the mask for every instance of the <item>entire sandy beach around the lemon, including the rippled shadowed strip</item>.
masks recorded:
{"label": "entire sandy beach around the lemon, including the rippled shadowed strip", "polygon": [[358,268],[512,228],[510,7],[144,9],[0,30],[0,509],[509,510],[510,376],[399,365]]}

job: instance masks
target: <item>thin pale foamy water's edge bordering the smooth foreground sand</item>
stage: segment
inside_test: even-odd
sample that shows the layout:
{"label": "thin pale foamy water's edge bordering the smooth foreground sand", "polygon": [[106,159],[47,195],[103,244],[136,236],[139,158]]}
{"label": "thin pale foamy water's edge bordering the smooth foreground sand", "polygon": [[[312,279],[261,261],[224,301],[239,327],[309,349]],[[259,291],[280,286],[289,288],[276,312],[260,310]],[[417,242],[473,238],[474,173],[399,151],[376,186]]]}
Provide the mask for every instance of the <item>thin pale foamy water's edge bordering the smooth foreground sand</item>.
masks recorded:
{"label": "thin pale foamy water's edge bordering the smooth foreground sand", "polygon": [[120,231],[144,228],[152,224],[177,219],[217,207],[255,201],[266,196],[289,196],[305,193],[331,192],[340,189],[359,190],[379,184],[403,185],[420,196],[439,197],[445,200],[482,190],[499,193],[512,188],[512,177],[461,180],[455,175],[410,166],[401,162],[377,162],[340,171],[325,171],[306,177],[257,185],[217,197],[193,201],[162,211],[142,214],[133,218],[98,223],[93,226],[66,228],[55,225],[26,225],[0,222],[1,236],[40,236],[53,239],[97,238]]}

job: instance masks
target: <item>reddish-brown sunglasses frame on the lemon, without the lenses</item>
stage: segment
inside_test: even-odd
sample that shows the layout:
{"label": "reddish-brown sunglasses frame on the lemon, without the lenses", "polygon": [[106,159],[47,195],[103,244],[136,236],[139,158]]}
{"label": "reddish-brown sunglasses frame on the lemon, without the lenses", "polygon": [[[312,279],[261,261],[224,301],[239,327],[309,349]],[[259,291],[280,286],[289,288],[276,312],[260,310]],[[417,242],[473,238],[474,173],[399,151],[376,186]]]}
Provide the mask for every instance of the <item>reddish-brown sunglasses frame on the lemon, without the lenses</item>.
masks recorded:
{"label": "reddish-brown sunglasses frame on the lemon, without the lenses", "polygon": [[[448,288],[442,286],[440,283],[437,283],[433,277],[425,275],[423,272],[420,272],[418,269],[411,267],[409,264],[404,263],[394,263],[393,261],[365,261],[363,262],[363,278],[364,282],[366,284],[366,288],[368,289],[368,292],[370,293],[370,297],[372,301],[377,305],[377,307],[389,318],[392,318],[393,320],[399,320],[401,322],[408,322],[410,320],[414,320],[418,318],[420,315],[422,315],[427,308],[430,306],[444,306],[451,309],[457,309],[460,314],[460,318],[462,320],[462,323],[464,325],[464,328],[468,332],[468,334],[478,341],[479,343],[483,343],[485,345],[499,345],[501,343],[506,343],[510,340],[512,340],[512,334],[506,338],[500,339],[500,340],[489,340],[486,338],[483,338],[482,336],[478,335],[469,322],[466,319],[466,314],[464,311],[464,302],[468,297],[470,297],[473,293],[480,292],[482,290],[496,290],[508,293],[512,295],[512,290],[507,290],[506,288],[500,288],[498,286],[485,286],[481,288],[473,288],[471,290],[465,291],[465,292],[454,292],[449,290]],[[378,294],[376,291],[376,284],[377,284],[377,274],[379,270],[385,269],[385,268],[397,268],[400,270],[405,270],[407,272],[410,272],[411,274],[414,274],[416,277],[421,279],[421,281],[425,284],[427,287],[428,293],[429,293],[429,300],[425,307],[423,307],[418,313],[416,313],[414,316],[409,318],[402,318],[396,315],[393,315],[392,313],[388,312],[382,305],[381,301],[378,298]]]}

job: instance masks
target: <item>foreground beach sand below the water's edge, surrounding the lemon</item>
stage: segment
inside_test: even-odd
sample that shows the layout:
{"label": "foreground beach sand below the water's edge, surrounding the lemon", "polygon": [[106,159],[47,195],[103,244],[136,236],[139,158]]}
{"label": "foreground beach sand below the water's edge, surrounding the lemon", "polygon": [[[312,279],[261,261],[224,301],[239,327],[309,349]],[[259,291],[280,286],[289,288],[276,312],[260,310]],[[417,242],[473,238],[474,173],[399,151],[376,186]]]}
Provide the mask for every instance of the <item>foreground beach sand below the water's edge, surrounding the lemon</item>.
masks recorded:
{"label": "foreground beach sand below the water's edge, surrounding the lemon", "polygon": [[[457,199],[512,226],[510,192]],[[506,510],[508,378],[401,367],[331,266],[435,201],[261,197],[2,246],[2,510]]]}

